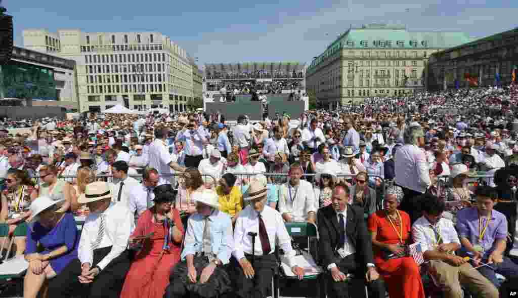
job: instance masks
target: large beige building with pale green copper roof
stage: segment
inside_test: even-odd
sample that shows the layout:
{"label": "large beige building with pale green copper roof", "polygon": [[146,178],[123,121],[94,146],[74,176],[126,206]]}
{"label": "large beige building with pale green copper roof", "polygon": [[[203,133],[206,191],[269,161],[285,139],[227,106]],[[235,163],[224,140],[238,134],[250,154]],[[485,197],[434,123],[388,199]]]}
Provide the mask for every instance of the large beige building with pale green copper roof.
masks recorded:
{"label": "large beige building with pale green copper roof", "polygon": [[405,26],[351,28],[313,58],[306,71],[308,95],[322,107],[337,107],[422,91],[429,56],[469,41],[464,33],[409,32]]}

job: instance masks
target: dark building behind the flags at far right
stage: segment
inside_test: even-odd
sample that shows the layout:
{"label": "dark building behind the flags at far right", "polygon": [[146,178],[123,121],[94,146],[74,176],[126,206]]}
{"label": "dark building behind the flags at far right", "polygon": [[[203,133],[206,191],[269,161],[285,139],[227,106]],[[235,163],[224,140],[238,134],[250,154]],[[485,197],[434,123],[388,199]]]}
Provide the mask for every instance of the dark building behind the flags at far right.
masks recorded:
{"label": "dark building behind the flags at far right", "polygon": [[514,65],[518,65],[518,27],[431,55],[428,89],[508,84]]}

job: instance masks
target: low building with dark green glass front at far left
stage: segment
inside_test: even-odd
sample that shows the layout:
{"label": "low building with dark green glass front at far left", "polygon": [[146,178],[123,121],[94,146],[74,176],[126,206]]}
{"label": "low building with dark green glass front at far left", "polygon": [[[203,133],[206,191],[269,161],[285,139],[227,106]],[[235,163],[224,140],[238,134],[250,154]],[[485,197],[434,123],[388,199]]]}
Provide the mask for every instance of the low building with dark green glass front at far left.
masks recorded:
{"label": "low building with dark green glass front at far left", "polygon": [[11,60],[0,65],[0,105],[77,110],[78,98],[74,60],[13,47]]}

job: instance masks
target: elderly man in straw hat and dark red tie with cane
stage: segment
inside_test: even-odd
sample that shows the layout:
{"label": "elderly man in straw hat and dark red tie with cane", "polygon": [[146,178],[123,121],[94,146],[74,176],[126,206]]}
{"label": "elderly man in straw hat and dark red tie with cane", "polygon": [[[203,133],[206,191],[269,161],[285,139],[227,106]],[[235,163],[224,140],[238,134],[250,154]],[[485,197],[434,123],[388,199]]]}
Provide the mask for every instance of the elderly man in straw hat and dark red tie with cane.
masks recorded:
{"label": "elderly man in straw hat and dark red tie with cane", "polygon": [[[234,260],[231,264],[236,272],[236,294],[242,298],[266,297],[266,289],[277,266],[276,243],[284,251],[293,273],[299,279],[304,277],[304,269],[295,264],[295,251],[284,220],[278,211],[267,206],[266,196],[266,187],[252,181],[243,195],[243,200],[249,201],[250,205],[241,211],[234,228],[233,256],[237,262]],[[254,247],[251,233],[257,236]]]}

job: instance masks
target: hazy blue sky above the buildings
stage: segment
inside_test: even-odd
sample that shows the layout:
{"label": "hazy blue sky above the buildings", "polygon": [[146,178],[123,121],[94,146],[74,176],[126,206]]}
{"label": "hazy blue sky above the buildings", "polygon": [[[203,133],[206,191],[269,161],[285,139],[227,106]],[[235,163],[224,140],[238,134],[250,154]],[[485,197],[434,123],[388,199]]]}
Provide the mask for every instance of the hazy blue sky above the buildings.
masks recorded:
{"label": "hazy blue sky above the buildings", "polygon": [[409,31],[466,32],[484,37],[518,26],[518,2],[485,0],[135,1],[4,0],[15,44],[24,29],[161,32],[198,64],[241,61],[308,63],[362,24],[406,25]]}

